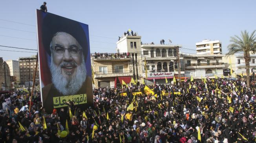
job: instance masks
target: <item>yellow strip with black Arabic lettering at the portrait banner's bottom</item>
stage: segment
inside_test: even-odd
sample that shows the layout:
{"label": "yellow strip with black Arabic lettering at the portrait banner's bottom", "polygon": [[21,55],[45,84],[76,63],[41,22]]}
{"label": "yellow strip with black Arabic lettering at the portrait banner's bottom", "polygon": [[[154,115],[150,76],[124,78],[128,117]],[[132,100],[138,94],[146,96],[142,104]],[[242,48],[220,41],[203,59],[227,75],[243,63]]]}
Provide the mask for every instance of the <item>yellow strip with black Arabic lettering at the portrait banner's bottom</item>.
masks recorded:
{"label": "yellow strip with black Arabic lettering at the portrait banner's bottom", "polygon": [[63,97],[53,97],[53,107],[60,108],[68,106],[66,103],[68,101],[72,101],[75,105],[85,104],[87,103],[87,95],[79,94],[79,95],[69,95]]}

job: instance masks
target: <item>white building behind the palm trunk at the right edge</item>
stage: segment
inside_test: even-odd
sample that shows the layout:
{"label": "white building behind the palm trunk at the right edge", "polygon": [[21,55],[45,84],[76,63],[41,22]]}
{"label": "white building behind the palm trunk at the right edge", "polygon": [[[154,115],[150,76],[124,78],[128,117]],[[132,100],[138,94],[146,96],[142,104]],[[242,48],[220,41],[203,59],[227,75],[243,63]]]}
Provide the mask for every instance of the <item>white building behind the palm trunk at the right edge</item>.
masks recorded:
{"label": "white building behind the palm trunk at the right edge", "polygon": [[[256,72],[256,54],[250,54],[251,57],[251,61],[250,61],[250,75],[252,75],[252,73]],[[227,71],[229,71],[232,68],[233,74],[232,75],[234,77],[243,77],[246,76],[246,66],[245,66],[245,59],[243,57],[243,54],[235,54],[235,55],[230,55],[230,56],[226,56],[223,58],[223,61],[226,64],[225,68]],[[231,61],[231,62],[230,62]]]}

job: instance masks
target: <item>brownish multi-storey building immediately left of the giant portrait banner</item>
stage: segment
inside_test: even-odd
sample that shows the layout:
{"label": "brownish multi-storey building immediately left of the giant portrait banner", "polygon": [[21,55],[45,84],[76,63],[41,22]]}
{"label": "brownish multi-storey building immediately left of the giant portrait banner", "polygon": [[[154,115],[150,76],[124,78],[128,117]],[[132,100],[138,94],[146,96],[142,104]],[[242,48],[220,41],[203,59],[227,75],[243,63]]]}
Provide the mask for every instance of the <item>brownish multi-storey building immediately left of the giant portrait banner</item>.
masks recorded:
{"label": "brownish multi-storey building immediately left of the giant portrait banner", "polygon": [[[20,85],[25,87],[32,87],[33,85],[33,75],[37,64],[37,56],[33,55],[31,57],[20,57]],[[39,66],[37,66],[35,86],[39,85]]]}

